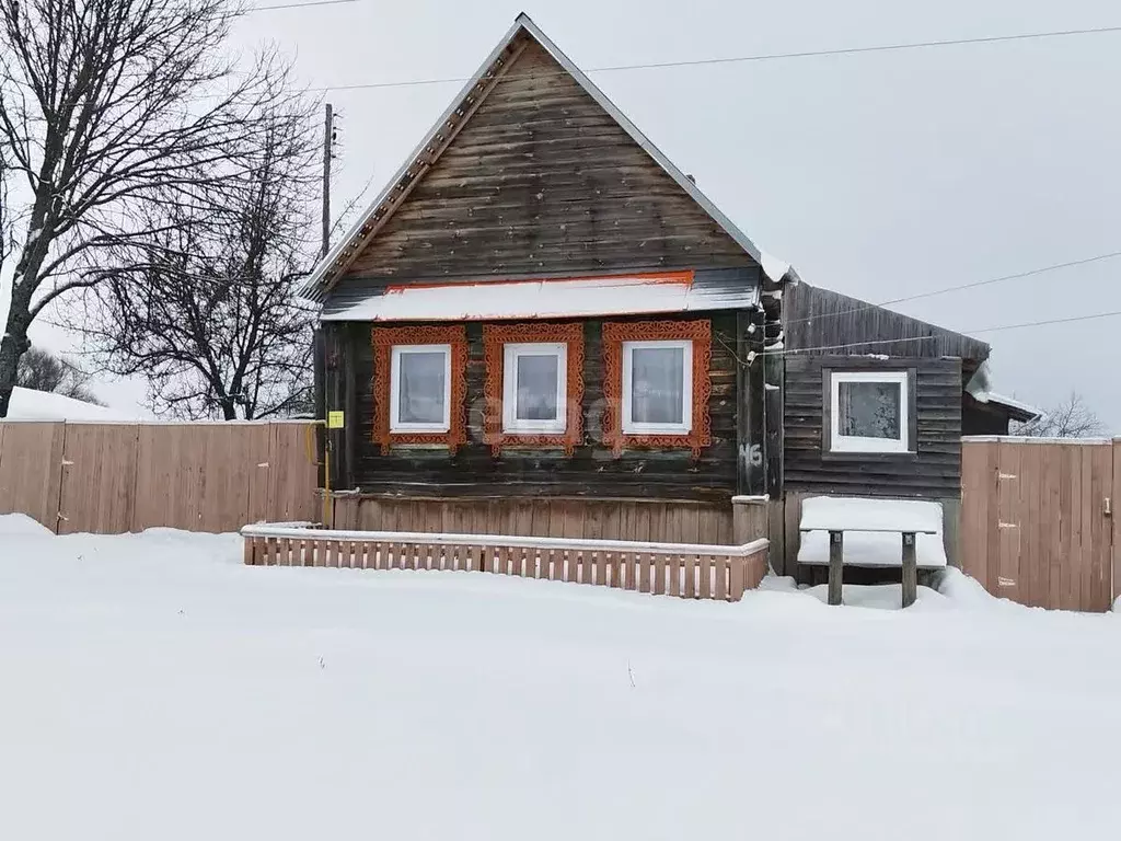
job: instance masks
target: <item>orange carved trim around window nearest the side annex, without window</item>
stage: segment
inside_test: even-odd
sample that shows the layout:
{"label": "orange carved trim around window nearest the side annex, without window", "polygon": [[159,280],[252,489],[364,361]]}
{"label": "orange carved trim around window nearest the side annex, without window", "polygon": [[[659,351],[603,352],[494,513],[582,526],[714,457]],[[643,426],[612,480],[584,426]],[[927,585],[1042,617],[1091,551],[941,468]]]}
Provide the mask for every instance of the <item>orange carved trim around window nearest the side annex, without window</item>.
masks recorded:
{"label": "orange carved trim around window nearest the side annex, without window", "polygon": [[[693,428],[680,435],[629,435],[622,431],[623,342],[693,342]],[[688,447],[693,458],[712,443],[708,397],[712,379],[708,321],[606,322],[603,325],[603,443],[615,456],[626,447]]]}

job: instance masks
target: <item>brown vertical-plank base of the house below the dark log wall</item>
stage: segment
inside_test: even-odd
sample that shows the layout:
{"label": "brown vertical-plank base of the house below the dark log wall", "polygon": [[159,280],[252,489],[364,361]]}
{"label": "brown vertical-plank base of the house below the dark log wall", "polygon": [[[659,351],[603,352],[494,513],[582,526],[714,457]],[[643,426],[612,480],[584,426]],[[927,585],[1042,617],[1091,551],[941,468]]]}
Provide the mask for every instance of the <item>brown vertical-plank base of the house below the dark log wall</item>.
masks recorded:
{"label": "brown vertical-plank base of the house below the dark log wall", "polygon": [[339,495],[332,528],[724,545],[732,506],[587,499],[387,499]]}

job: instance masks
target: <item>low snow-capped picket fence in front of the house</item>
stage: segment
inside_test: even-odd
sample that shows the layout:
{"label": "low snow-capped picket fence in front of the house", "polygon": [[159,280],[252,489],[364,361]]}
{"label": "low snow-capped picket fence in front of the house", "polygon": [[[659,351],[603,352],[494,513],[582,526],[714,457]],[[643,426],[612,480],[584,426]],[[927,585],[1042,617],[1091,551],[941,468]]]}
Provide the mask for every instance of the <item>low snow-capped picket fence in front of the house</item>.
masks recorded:
{"label": "low snow-capped picket fence in front of the house", "polygon": [[743,546],[245,526],[245,563],[493,572],[685,599],[739,601],[767,573],[766,539]]}

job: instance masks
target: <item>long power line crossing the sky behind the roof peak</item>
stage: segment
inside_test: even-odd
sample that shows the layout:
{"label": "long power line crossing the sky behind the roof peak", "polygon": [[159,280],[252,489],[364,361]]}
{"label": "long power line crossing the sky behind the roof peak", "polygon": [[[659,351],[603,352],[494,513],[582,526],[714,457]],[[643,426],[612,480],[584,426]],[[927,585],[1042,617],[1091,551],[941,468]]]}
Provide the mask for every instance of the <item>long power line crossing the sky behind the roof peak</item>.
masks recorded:
{"label": "long power line crossing the sky behind the roof peak", "polygon": [[[331,0],[327,0],[328,2]],[[334,2],[349,2],[353,0],[334,0]],[[589,73],[612,73],[617,71],[633,70],[658,70],[665,67],[696,67],[710,64],[739,64],[744,62],[771,62],[785,58],[812,58],[822,56],[860,55],[863,53],[889,53],[904,49],[929,49],[934,47],[951,47],[971,44],[1001,44],[1018,40],[1036,40],[1040,38],[1069,38],[1078,35],[1105,35],[1121,33],[1121,26],[1102,26],[1088,29],[1056,29],[1044,33],[1023,33],[1020,35],[991,35],[978,38],[948,38],[945,40],[924,40],[900,44],[877,44],[867,47],[839,47],[834,49],[806,49],[790,53],[759,53],[754,55],[730,56],[724,58],[689,58],[676,62],[650,62],[646,64],[615,64],[603,67],[592,67]],[[548,75],[548,74],[543,74]],[[557,73],[556,75],[564,75]],[[469,81],[469,76],[455,76],[446,78],[417,78],[404,82],[368,82],[350,85],[326,85],[315,87],[315,91],[363,91],[380,87],[415,87],[419,85],[439,85],[463,83]]]}

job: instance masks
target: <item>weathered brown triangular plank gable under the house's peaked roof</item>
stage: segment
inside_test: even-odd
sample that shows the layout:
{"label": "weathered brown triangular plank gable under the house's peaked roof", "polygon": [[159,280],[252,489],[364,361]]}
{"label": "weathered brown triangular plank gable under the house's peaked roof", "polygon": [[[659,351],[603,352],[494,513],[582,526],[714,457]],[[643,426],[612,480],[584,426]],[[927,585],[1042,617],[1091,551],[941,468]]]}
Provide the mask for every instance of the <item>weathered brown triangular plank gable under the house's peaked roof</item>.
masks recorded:
{"label": "weathered brown triangular plank gable under the house's peaked roof", "polygon": [[738,266],[756,262],[530,43],[341,287]]}

